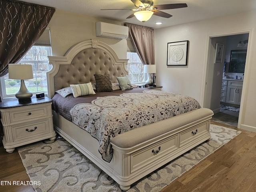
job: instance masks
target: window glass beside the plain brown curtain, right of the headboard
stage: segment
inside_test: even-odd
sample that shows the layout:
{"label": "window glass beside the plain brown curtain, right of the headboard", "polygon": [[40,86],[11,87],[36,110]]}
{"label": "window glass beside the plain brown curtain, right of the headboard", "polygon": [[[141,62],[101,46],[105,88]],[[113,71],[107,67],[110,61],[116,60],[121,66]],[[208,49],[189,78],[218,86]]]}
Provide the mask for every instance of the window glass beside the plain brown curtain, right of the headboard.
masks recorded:
{"label": "window glass beside the plain brown curtain, right of the headboard", "polygon": [[129,71],[129,79],[131,83],[145,82],[144,79],[144,65],[142,64],[137,53],[127,52],[128,65],[127,70]]}

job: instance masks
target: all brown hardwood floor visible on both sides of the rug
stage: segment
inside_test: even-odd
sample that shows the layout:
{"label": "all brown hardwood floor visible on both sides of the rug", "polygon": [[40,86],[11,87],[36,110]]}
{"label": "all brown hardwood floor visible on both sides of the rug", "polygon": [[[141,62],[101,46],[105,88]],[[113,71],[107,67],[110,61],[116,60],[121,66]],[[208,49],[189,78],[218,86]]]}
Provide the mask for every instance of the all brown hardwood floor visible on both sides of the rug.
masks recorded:
{"label": "all brown hardwood floor visible on both sides of the rug", "polygon": [[[227,126],[217,122],[212,124]],[[236,138],[174,180],[161,192],[256,192],[256,133],[241,131]],[[29,185],[3,183],[30,179],[17,150],[8,154],[2,144],[0,181],[1,192],[34,192]]]}

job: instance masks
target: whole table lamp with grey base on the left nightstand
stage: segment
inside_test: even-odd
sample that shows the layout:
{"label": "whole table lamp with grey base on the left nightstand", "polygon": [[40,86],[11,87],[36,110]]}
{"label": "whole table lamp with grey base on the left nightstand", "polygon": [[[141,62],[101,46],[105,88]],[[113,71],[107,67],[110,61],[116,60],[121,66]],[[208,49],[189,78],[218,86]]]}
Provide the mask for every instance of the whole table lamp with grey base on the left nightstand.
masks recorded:
{"label": "whole table lamp with grey base on the left nightstand", "polygon": [[32,92],[30,92],[24,83],[24,79],[33,79],[32,65],[28,64],[9,64],[9,79],[20,80],[20,90],[15,94],[20,103],[31,101]]}

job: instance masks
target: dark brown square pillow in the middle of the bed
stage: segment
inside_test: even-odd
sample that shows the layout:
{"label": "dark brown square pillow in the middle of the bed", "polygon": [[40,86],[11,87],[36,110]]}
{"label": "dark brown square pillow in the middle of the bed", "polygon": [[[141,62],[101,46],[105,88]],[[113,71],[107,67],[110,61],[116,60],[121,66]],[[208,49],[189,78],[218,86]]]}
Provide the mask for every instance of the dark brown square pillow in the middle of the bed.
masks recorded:
{"label": "dark brown square pillow in the middle of the bed", "polygon": [[112,84],[110,75],[94,74],[96,80],[96,91],[97,92],[112,92]]}

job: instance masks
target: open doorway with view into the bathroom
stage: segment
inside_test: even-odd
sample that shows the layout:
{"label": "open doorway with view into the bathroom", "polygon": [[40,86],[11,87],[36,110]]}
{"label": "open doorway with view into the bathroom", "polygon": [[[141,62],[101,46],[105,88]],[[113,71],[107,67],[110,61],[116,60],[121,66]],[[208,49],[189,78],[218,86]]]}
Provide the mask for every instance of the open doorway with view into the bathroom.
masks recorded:
{"label": "open doorway with view into the bathroom", "polygon": [[[239,94],[242,95],[243,80],[236,80],[236,74],[239,77],[238,79],[243,79],[244,72],[230,70],[230,55],[231,50],[247,50],[248,38],[248,32],[209,37],[204,106],[214,111],[213,121],[239,126],[240,103],[238,101],[232,103],[229,99],[236,96],[234,94],[237,94],[238,88]],[[241,42],[245,43],[240,46]],[[224,45],[222,62],[218,64],[214,63],[216,43]],[[233,81],[240,82],[241,87],[231,87]],[[228,88],[234,88],[233,95]],[[236,97],[238,98],[238,96]],[[233,106],[236,107],[234,110],[232,109]]]}

